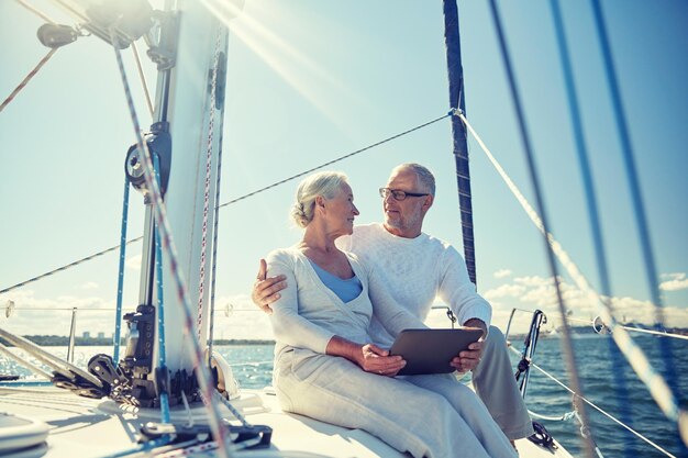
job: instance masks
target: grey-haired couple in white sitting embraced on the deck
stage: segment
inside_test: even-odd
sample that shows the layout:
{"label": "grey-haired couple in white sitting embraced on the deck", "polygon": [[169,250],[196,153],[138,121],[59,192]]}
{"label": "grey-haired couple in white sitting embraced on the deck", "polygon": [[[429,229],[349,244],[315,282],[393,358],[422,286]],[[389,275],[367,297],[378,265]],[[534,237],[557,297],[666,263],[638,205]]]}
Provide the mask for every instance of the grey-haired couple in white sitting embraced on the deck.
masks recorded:
{"label": "grey-haired couple in white sitting embraced on the deck", "polygon": [[[253,291],[277,340],[275,389],[285,411],[365,429],[413,457],[512,458],[531,420],[462,256],[421,231],[434,194],[430,170],[400,165],[380,189],[385,223],[354,227],[343,174],[299,185],[291,215],[303,238],[270,253],[267,272],[260,261]],[[387,350],[393,336],[426,327],[435,297],[484,331],[452,360],[473,370],[477,395],[453,375],[395,377],[406,362]]]}

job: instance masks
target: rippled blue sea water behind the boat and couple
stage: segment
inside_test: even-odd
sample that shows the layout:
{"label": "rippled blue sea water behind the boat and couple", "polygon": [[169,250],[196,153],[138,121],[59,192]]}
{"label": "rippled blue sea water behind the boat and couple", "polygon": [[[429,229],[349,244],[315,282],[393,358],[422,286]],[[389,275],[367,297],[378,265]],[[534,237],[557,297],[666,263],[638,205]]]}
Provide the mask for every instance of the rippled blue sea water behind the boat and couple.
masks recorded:
{"label": "rippled blue sea water behind the boat and couple", "polygon": [[[644,349],[657,370],[664,371],[667,347],[662,345],[665,337],[640,336],[634,340]],[[657,407],[647,389],[623,359],[618,359],[610,351],[610,337],[598,335],[575,336],[574,349],[578,365],[585,398],[607,414],[626,423],[639,434],[645,436],[676,457],[688,457],[683,447],[675,423],[666,420]],[[513,347],[520,349],[520,342],[513,340]],[[684,409],[688,407],[688,342],[669,340],[668,350],[673,355],[666,361],[677,375],[674,381]],[[64,357],[65,347],[46,347],[55,355]],[[218,350],[232,365],[234,377],[244,388],[263,388],[270,384],[273,369],[273,345],[224,345]],[[14,349],[13,349],[14,350]],[[97,354],[111,354],[111,347],[80,347],[75,353],[75,364],[86,367],[88,359]],[[667,355],[668,356],[668,355]],[[518,357],[514,355],[514,367]],[[561,339],[543,338],[535,350],[534,362],[547,371],[558,382],[569,386],[566,376],[565,358],[561,350]],[[27,376],[29,371],[0,355],[0,373]],[[469,382],[469,377],[462,381]],[[526,403],[529,410],[547,417],[562,417],[573,412],[572,394],[557,381],[531,369],[528,384]],[[624,393],[625,391],[625,393]],[[587,405],[587,404],[586,404]],[[665,457],[644,439],[619,426],[606,414],[587,406],[592,437],[604,457]],[[536,420],[572,455],[582,457],[580,424],[572,417],[566,421]]]}

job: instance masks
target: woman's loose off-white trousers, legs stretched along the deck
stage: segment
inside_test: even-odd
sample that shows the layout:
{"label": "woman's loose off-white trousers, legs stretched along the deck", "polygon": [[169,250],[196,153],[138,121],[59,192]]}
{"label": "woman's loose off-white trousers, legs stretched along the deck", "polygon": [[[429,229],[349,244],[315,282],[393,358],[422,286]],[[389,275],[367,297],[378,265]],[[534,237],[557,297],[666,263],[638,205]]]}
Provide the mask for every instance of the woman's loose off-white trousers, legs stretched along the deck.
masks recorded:
{"label": "woman's loose off-white trousers, legs stretched along the deck", "polygon": [[365,429],[421,458],[514,458],[470,389],[453,376],[389,378],[310,350],[284,351],[275,388],[285,411]]}

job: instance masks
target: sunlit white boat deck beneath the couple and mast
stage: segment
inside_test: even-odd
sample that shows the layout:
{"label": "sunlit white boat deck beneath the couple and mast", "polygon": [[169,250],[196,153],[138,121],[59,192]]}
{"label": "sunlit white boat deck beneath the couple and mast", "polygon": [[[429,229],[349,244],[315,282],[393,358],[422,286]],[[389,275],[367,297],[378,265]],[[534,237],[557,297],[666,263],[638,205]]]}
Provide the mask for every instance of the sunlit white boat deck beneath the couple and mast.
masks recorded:
{"label": "sunlit white boat deck beneath the couple and mast", "polygon": [[[233,401],[246,420],[254,425],[273,428],[268,449],[242,450],[238,457],[390,457],[400,454],[381,440],[359,429],[347,429],[300,415],[284,413],[269,390],[243,390],[241,399]],[[225,409],[222,406],[222,409]],[[48,427],[46,445],[32,450],[14,453],[14,458],[29,457],[103,457],[121,454],[135,447],[141,426],[157,421],[157,410],[125,409],[113,401],[77,396],[68,391],[47,388],[0,387],[0,412],[43,422]],[[229,411],[223,415],[232,417]],[[203,423],[202,407],[192,409],[195,422]],[[187,423],[189,413],[173,411],[173,421]],[[2,437],[0,428],[0,437]],[[2,440],[0,440],[2,443]],[[517,443],[521,457],[569,458],[559,447],[548,450],[526,439]],[[151,455],[151,454],[148,454]],[[187,450],[184,455],[156,450],[156,456],[213,457],[212,449]]]}

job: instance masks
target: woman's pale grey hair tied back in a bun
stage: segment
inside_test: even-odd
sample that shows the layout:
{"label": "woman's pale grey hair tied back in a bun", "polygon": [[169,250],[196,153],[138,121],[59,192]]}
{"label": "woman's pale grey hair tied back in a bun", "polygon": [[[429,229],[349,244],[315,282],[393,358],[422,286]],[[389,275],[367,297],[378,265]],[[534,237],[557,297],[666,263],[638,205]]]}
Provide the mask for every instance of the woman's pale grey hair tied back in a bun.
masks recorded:
{"label": "woman's pale grey hair tied back in a bun", "polygon": [[315,199],[319,196],[334,198],[345,182],[348,182],[346,175],[339,171],[321,171],[306,177],[297,188],[296,202],[291,208],[291,217],[297,225],[308,226],[313,221]]}

